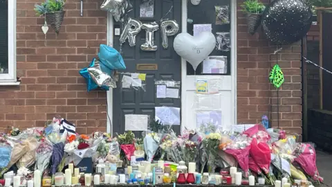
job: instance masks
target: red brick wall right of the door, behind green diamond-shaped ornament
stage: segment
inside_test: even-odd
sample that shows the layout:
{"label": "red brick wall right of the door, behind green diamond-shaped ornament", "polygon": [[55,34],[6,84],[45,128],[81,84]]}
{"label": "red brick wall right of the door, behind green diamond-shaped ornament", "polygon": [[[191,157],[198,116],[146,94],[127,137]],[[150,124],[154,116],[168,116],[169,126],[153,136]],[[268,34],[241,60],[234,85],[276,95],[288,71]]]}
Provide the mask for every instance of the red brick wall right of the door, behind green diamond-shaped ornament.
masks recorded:
{"label": "red brick wall right of the door, behind green diamond-shaped ornament", "polygon": [[272,126],[277,127],[277,91],[269,83],[268,74],[278,59],[285,76],[279,89],[279,127],[302,134],[300,42],[283,46],[278,55],[273,55],[276,46],[265,39],[261,28],[255,35],[246,33],[246,19],[239,11],[242,2],[238,1],[237,12],[238,123],[259,123],[261,116],[266,114],[272,120]]}

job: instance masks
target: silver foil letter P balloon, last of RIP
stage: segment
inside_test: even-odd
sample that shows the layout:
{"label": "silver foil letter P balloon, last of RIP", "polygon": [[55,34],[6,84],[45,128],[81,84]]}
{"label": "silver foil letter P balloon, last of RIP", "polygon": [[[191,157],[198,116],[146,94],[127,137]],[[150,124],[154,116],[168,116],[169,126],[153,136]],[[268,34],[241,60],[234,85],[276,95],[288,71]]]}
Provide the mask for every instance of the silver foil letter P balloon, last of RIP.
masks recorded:
{"label": "silver foil letter P balloon, last of RIP", "polygon": [[169,36],[174,36],[178,33],[178,23],[175,20],[164,20],[160,24],[161,37],[163,38],[163,48],[168,48]]}

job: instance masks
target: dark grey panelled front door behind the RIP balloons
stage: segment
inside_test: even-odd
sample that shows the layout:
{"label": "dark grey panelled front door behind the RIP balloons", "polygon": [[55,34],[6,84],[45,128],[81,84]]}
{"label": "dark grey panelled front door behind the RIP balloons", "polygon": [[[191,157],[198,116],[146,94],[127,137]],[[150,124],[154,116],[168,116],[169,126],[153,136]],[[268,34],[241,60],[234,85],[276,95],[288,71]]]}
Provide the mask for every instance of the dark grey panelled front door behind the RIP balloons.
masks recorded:
{"label": "dark grey panelled front door behind the RIP balloons", "polygon": [[[140,17],[141,0],[133,0],[133,10],[129,12],[129,17],[139,19],[142,23],[156,21],[160,26],[160,19],[175,19],[181,29],[181,0],[154,0],[154,17]],[[172,8],[167,16],[167,12]],[[165,16],[165,17],[164,17]],[[120,28],[120,24],[115,23],[114,28]],[[179,31],[180,33],[181,31]],[[125,114],[147,114],[150,119],[154,119],[154,107],[181,107],[181,99],[156,98],[155,80],[181,80],[181,57],[179,57],[173,48],[174,37],[168,37],[169,47],[164,49],[160,37],[160,29],[154,32],[154,44],[158,50],[147,52],[140,50],[140,44],[145,43],[145,30],[141,30],[136,36],[136,46],[129,46],[128,41],[122,44],[122,57],[127,66],[124,72],[147,73],[145,91],[142,89],[121,89],[121,78],[117,82],[117,88],[113,89],[113,133],[124,132],[124,115]],[[119,50],[119,36],[114,36],[114,47]],[[156,70],[138,70],[136,65],[139,64],[158,64]],[[180,126],[173,127],[179,132]],[[138,134],[138,132],[136,133]]]}

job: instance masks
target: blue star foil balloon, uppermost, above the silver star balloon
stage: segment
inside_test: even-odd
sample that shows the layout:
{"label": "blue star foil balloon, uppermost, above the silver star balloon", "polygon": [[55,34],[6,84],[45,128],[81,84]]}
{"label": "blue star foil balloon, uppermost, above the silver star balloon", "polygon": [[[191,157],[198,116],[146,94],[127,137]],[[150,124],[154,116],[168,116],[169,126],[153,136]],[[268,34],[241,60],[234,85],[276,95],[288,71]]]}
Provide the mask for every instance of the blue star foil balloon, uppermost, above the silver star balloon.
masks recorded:
{"label": "blue star foil balloon, uppermost, above the silver star balloon", "polygon": [[100,64],[104,64],[109,69],[126,69],[122,56],[115,48],[100,44],[99,51]]}

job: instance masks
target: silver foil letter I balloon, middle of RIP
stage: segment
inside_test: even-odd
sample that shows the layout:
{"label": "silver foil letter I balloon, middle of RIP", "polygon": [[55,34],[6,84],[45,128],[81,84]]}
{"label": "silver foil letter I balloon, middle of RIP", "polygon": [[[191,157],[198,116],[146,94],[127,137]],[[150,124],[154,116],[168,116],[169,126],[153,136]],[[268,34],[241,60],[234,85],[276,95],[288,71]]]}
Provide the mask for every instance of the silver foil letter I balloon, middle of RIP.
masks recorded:
{"label": "silver foil letter I balloon, middle of RIP", "polygon": [[140,45],[142,51],[157,51],[157,46],[154,44],[154,31],[158,30],[159,26],[156,22],[142,24],[142,29],[145,30],[145,43]]}

